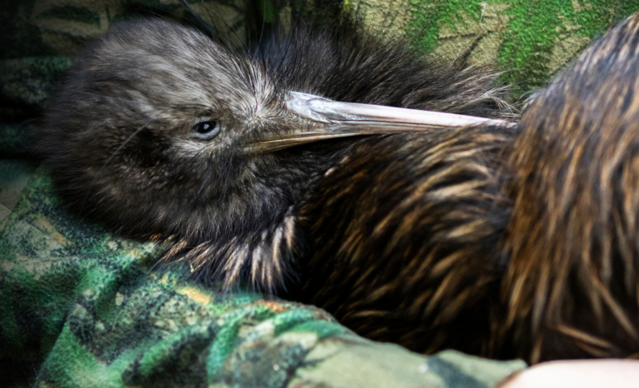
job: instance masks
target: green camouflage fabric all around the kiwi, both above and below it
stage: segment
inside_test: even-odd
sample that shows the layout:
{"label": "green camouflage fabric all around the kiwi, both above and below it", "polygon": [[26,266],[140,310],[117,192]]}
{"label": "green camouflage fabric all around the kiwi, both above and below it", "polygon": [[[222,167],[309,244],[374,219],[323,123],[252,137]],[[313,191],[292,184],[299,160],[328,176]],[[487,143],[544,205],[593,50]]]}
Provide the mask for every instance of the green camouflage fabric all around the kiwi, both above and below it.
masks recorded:
{"label": "green camouflage fabric all around the kiwi, both above and below it", "polygon": [[[311,6],[247,3],[283,22]],[[235,0],[192,6],[204,19],[224,20],[232,44],[246,39]],[[442,60],[510,70],[504,81],[526,97],[639,1],[343,0],[341,7],[365,28],[407,35]],[[165,247],[118,239],[70,216],[47,172],[29,159],[29,132],[82,45],[132,15],[186,14],[177,0],[26,0],[0,10],[0,385],[488,388],[525,367],[453,351],[416,355],[362,339],[315,307],[215,293],[185,280],[185,266],[155,266]]]}

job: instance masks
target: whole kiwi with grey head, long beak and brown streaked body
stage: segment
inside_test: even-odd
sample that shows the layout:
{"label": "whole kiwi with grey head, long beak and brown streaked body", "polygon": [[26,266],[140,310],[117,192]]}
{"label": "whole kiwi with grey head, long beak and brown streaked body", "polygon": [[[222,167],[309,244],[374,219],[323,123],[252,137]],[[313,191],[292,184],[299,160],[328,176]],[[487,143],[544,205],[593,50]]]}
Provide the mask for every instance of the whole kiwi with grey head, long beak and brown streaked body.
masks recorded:
{"label": "whole kiwi with grey head, long beak and brown streaked body", "polygon": [[223,289],[288,284],[283,295],[423,352],[625,357],[636,205],[632,128],[615,109],[634,78],[615,65],[634,58],[634,20],[516,128],[498,72],[402,40],[299,26],[233,51],[125,22],[79,56],[36,150],[72,211],[172,243],[165,261]]}

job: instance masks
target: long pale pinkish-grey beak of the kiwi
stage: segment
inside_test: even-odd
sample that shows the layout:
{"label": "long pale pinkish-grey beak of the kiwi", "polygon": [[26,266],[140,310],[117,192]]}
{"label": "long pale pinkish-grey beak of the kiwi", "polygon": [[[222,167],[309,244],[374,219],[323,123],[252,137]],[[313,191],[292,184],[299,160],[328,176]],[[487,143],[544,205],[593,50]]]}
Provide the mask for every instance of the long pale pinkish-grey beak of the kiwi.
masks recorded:
{"label": "long pale pinkish-grey beak of the kiwi", "polygon": [[480,124],[503,127],[516,126],[516,123],[505,120],[393,108],[391,106],[337,102],[300,92],[291,92],[286,106],[291,113],[300,118],[302,129],[293,133],[260,138],[247,144],[245,149],[254,152],[274,152],[278,149],[304,143],[348,136],[397,134]]}

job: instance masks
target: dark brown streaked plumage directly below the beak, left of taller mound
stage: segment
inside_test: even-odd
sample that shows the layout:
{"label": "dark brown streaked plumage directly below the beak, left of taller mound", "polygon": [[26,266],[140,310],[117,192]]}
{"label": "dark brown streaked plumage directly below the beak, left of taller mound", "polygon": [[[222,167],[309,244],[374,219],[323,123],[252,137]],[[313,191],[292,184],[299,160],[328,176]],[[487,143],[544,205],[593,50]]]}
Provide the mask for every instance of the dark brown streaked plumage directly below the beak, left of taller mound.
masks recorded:
{"label": "dark brown streaked plumage directly below the beak, left of taller mound", "polygon": [[513,136],[477,127],[358,145],[301,210],[303,300],[412,350],[489,347],[510,216],[497,156]]}

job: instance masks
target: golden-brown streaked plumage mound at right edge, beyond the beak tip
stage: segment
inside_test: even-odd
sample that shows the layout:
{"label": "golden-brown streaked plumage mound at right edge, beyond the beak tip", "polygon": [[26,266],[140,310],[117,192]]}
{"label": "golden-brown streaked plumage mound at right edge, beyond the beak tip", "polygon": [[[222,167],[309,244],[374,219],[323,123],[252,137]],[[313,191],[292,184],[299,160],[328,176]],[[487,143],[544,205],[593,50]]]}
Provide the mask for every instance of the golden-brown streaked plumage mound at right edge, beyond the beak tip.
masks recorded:
{"label": "golden-brown streaked plumage mound at right edge, beyond the beak tip", "polygon": [[502,291],[514,341],[537,338],[532,361],[553,341],[574,357],[639,348],[638,26],[633,15],[553,81],[508,152]]}

